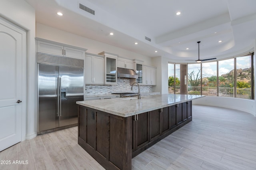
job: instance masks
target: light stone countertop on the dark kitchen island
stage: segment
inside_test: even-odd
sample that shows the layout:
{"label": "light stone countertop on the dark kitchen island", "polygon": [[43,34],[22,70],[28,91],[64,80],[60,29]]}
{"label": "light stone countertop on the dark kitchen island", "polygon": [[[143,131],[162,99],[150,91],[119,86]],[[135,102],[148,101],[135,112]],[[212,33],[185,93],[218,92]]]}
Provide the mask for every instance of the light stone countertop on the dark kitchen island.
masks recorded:
{"label": "light stone countertop on the dark kitchen island", "polygon": [[121,117],[129,117],[201,97],[205,96],[164,94],[143,96],[141,99],[137,99],[137,97],[123,97],[97,101],[77,101],[76,104]]}

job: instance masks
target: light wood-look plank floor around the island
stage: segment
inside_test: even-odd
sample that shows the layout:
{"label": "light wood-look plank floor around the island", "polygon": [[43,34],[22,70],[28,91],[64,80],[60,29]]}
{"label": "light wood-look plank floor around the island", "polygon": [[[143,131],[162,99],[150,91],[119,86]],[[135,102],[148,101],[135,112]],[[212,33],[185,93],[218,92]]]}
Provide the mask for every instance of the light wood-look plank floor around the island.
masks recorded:
{"label": "light wood-look plank floor around the island", "polygon": [[[1,170],[104,169],[77,144],[77,127],[20,142],[0,152],[0,160],[25,163],[0,164]],[[132,169],[255,170],[256,118],[193,105],[193,121],[133,158]]]}

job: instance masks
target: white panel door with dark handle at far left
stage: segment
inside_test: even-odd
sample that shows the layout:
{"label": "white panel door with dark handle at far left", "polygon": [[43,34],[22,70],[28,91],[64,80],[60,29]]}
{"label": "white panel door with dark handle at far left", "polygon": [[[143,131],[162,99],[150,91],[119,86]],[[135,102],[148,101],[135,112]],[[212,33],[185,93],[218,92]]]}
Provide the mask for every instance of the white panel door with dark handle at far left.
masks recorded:
{"label": "white panel door with dark handle at far left", "polygon": [[[22,139],[22,34],[0,19],[0,151]],[[25,107],[25,106],[24,106]]]}

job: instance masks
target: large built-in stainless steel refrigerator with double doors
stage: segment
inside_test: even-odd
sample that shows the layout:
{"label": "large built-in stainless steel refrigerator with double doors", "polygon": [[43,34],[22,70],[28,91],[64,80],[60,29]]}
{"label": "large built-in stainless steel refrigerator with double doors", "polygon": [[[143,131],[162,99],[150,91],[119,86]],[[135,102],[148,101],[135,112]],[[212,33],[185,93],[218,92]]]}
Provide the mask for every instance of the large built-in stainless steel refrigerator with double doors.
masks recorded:
{"label": "large built-in stainless steel refrigerator with double doors", "polygon": [[76,101],[84,100],[83,60],[80,67],[68,67],[68,62],[61,65],[38,61],[38,134],[78,123]]}

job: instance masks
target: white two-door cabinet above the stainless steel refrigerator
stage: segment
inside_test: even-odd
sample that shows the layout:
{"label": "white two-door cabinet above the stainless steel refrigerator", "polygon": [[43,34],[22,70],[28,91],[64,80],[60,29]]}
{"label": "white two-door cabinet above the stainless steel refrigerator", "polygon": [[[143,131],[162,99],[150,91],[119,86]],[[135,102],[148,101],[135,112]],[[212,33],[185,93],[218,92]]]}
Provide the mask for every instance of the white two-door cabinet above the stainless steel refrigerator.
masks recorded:
{"label": "white two-door cabinet above the stainless steel refrigerator", "polygon": [[66,45],[63,43],[52,42],[50,40],[44,40],[36,38],[37,40],[37,52],[47,53],[52,55],[84,59],[85,51],[87,49],[75,47],[72,45]]}

